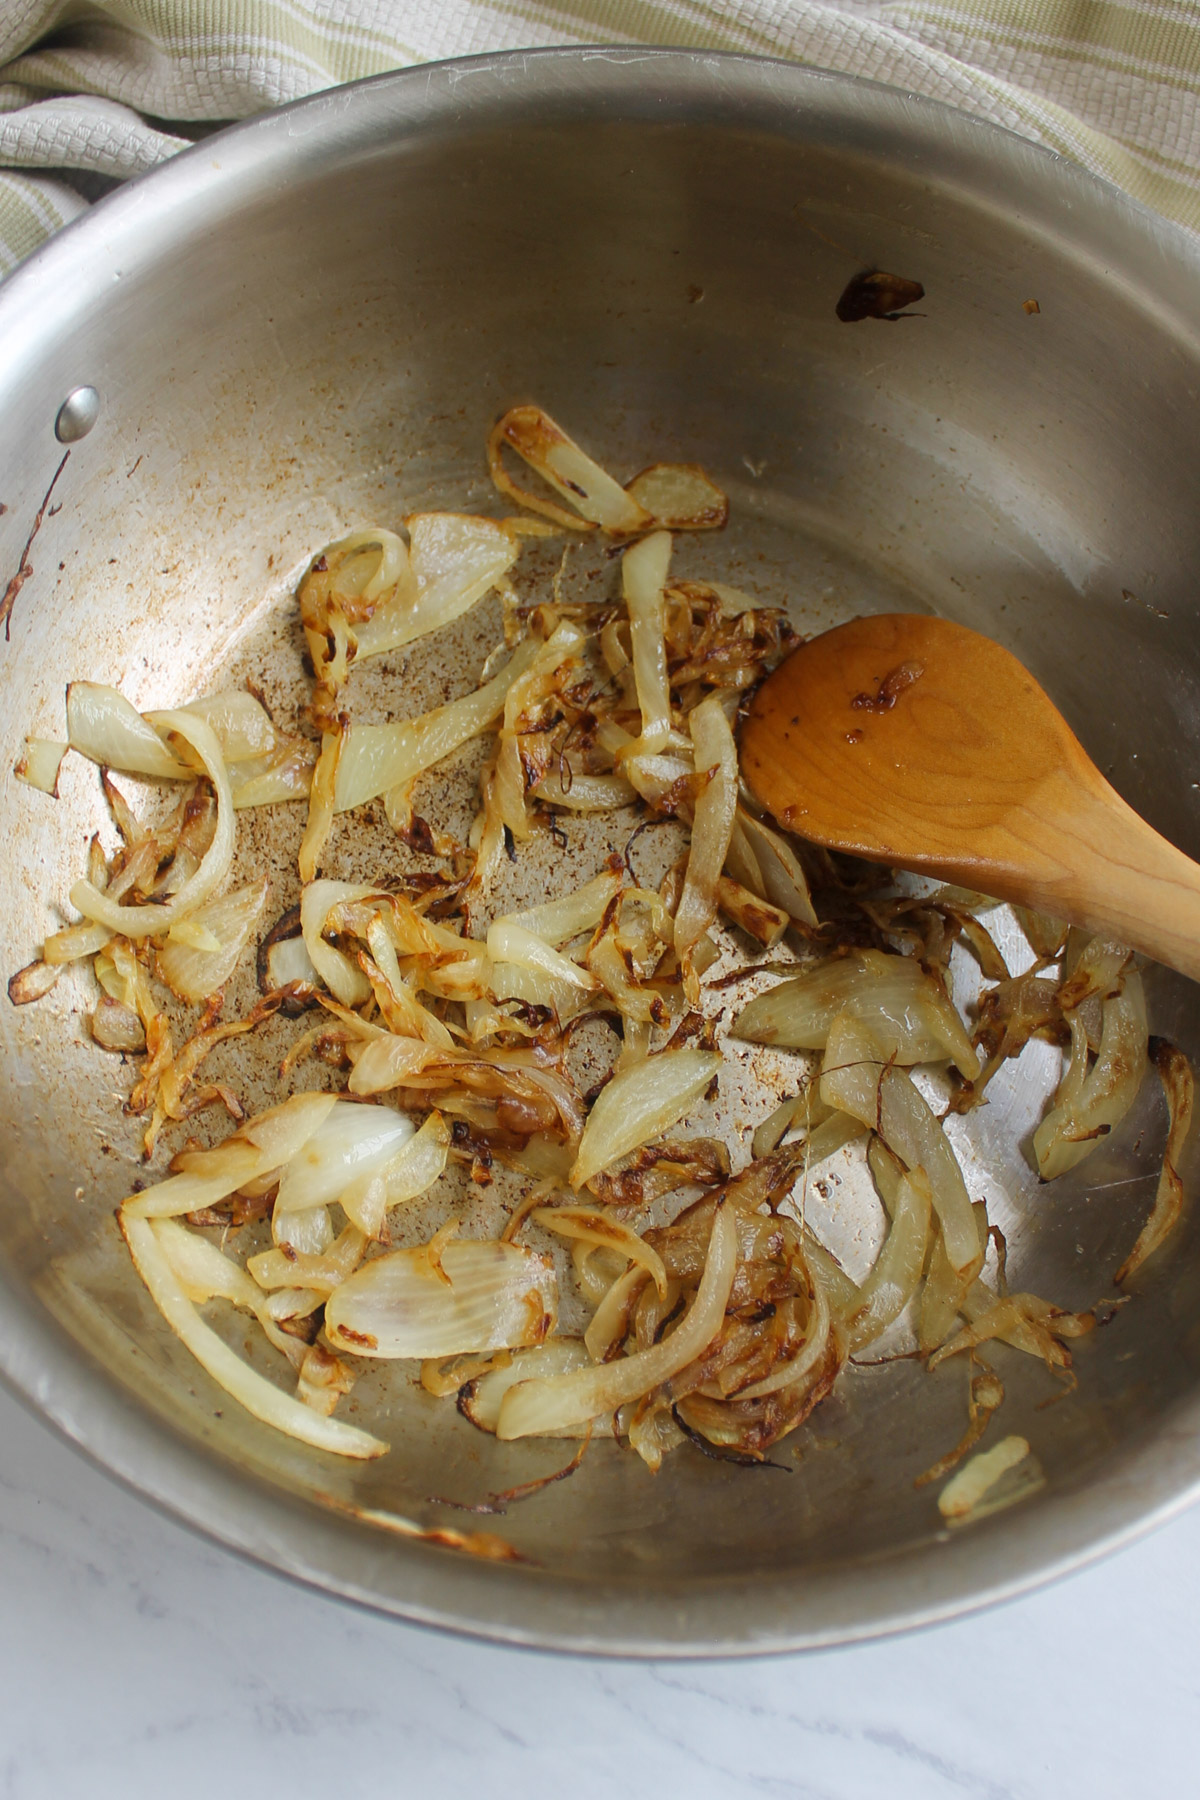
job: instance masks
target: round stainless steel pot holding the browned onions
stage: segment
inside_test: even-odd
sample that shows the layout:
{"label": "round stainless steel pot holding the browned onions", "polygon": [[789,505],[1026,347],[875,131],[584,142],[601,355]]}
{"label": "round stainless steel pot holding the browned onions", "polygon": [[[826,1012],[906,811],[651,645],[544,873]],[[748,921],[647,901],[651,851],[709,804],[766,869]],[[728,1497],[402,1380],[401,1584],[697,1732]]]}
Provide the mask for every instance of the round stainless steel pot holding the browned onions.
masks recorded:
{"label": "round stainless steel pot holding the browned onions", "polygon": [[[921,317],[838,322],[864,266],[919,279]],[[900,605],[1000,637],[1126,799],[1196,855],[1198,297],[1191,241],[1072,166],[768,61],[484,58],[205,140],[0,292],[5,565],[59,461],[63,394],[104,394],[0,646],[9,968],[41,941],[99,810],[94,770],[68,765],[58,803],[11,776],[27,731],[61,736],[65,680],[162,706],[255,673],[288,715],[302,558],[419,506],[489,508],[484,432],[527,398],[626,475],[685,457],[729,486],[730,529],[684,545],[684,569],[786,599],[808,630]],[[495,625],[473,617],[453,666],[414,646],[362,671],[360,716],[417,711],[468,679]],[[448,776],[446,805],[468,778]],[[293,812],[241,833],[281,905]],[[581,866],[594,850],[572,842]],[[342,828],[335,853],[347,873],[398,866],[369,832]],[[556,868],[534,862],[533,886]],[[1200,1048],[1195,990],[1153,970],[1148,992],[1155,1030]],[[511,1642],[752,1652],[1018,1591],[1196,1487],[1195,1213],[1133,1303],[1079,1343],[1074,1393],[1042,1409],[1049,1377],[997,1352],[1004,1427],[1029,1436],[1045,1487],[954,1537],[912,1487],[963,1429],[954,1364],[849,1372],[797,1435],[799,1460],[788,1440],[790,1474],[682,1451],[655,1480],[604,1444],[570,1481],[482,1521],[444,1498],[549,1472],[560,1449],[497,1445],[394,1370],[363,1382],[354,1415],[394,1454],[340,1467],[223,1402],[142,1294],[112,1222],[140,1174],[137,1132],[86,1012],[79,976],[0,1013],[0,1363],[140,1492],[302,1580]],[[286,1040],[281,1021],[255,1060],[228,1046],[252,1102]],[[964,1159],[1009,1235],[1015,1285],[1085,1305],[1150,1204],[1162,1107],[1148,1087],[1078,1179],[1040,1192],[1022,1143],[1054,1057],[1029,1060],[964,1130]],[[727,1121],[761,1118],[772,1080],[766,1053],[748,1058]],[[846,1170],[808,1202],[851,1258],[878,1229],[858,1193]],[[405,1539],[362,1508],[482,1523],[524,1561]]]}

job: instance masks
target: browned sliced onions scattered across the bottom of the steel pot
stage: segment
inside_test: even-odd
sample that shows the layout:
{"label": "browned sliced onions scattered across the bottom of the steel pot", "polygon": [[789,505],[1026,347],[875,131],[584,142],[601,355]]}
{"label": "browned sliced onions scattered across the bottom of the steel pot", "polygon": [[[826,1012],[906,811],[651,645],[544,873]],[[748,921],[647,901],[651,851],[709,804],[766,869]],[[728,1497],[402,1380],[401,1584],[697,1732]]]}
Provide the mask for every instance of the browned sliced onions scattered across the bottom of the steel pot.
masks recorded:
{"label": "browned sliced onions scattered across the bottom of the steel pot", "polygon": [[[516,486],[509,452],[545,491]],[[651,1469],[684,1444],[761,1463],[847,1357],[909,1314],[930,1368],[1002,1341],[1067,1372],[1069,1345],[1097,1314],[1007,1292],[1004,1240],[982,1201],[972,1202],[943,1118],[981,1105],[1031,1039],[1069,1046],[1034,1148],[1045,1177],[1074,1166],[1124,1118],[1142,1078],[1132,954],[1018,909],[1034,965],[1011,977],[1002,938],[979,918],[986,896],[914,891],[894,871],[802,846],[763,821],[739,787],[732,727],[795,634],[781,610],[736,589],[671,576],[671,533],[725,522],[720,488],[694,464],[657,463],[622,490],[534,405],[498,421],[488,454],[497,486],[542,518],[419,513],[407,538],[354,529],[309,563],[297,590],[309,734],[281,731],[250,689],[148,715],[113,688],[68,689],[68,743],[103,765],[119,842],[106,853],[92,839],[72,891],[83,922],[50,932],[9,995],[36,1001],[67,963],[92,959],[72,990],[94,976],[94,1042],[140,1058],[126,1111],[148,1120],[148,1156],[169,1121],[210,1103],[237,1123],[210,1150],[193,1139],[164,1181],[121,1206],[155,1303],[230,1397],[349,1456],[385,1449],[335,1418],[362,1366],[354,1354],[419,1359],[430,1395],[461,1390],[462,1413],[502,1438],[612,1431]],[[509,578],[529,538],[596,526],[637,540],[619,594],[579,592],[567,553],[542,594]],[[441,630],[493,590],[504,641],[473,691],[394,724],[358,715],[358,662]],[[428,668],[453,691],[439,650],[430,646]],[[405,679],[398,666],[392,688]],[[871,706],[887,704],[885,688]],[[452,817],[417,812],[416,783],[484,734],[495,736],[479,812],[461,842]],[[27,740],[18,776],[56,792],[65,749]],[[178,803],[135,808],[110,767],[182,783]],[[266,898],[261,877],[225,891],[236,810],[300,797],[300,893],[257,945],[264,997],[221,1021]],[[376,797],[398,837],[381,878],[317,880],[326,855],[362,842],[360,821],[333,835],[335,815]],[[637,808],[635,828],[619,808]],[[615,833],[583,884],[570,814],[610,814]],[[664,830],[642,837],[649,826]],[[243,855],[254,837],[246,821]],[[515,909],[509,864],[525,875],[540,866],[545,898]],[[779,961],[747,968],[739,932],[779,945]],[[801,943],[819,956],[797,961]],[[952,997],[955,945],[975,958],[972,981],[982,979],[973,1037]],[[705,995],[718,958],[725,967]],[[718,1049],[721,990],[748,976],[754,997],[732,1035],[766,1049]],[[160,983],[184,1006],[203,1003],[203,1015],[167,1013]],[[236,1085],[200,1080],[218,1044],[300,1012],[281,1075],[306,1057],[349,1067],[336,1093],[302,1093],[245,1120]],[[788,1051],[819,1053],[819,1078]],[[1184,1201],[1193,1076],[1173,1046],[1151,1040],[1151,1055],[1168,1141],[1153,1210],[1117,1280],[1162,1244]],[[727,1058],[741,1064],[734,1085],[792,1067],[801,1087],[759,1123],[754,1159],[736,1175],[725,1143],[689,1136]],[[380,1094],[385,1103],[363,1103]],[[666,1141],[676,1127],[680,1141]],[[810,1195],[829,1193],[822,1163],[846,1145],[865,1148],[889,1217],[862,1283],[806,1222]],[[468,1237],[452,1219],[412,1244],[416,1217],[398,1208],[437,1190],[444,1213],[452,1159]],[[497,1177],[507,1224],[497,1238],[471,1237],[489,1217],[473,1197]],[[516,1195],[506,1183],[520,1183]],[[585,1190],[574,1204],[563,1204],[565,1184]],[[259,1240],[248,1258],[234,1253],[237,1238],[225,1255],[201,1235],[263,1231],[268,1219],[270,1247]],[[554,1265],[518,1242],[534,1228],[569,1242],[563,1280],[592,1309],[583,1341],[552,1336]],[[991,1242],[995,1282],[982,1278]],[[198,1309],[214,1303],[261,1325],[295,1372],[293,1393],[212,1332]],[[921,1481],[966,1456],[1000,1404],[999,1379],[979,1366],[968,1431]],[[1024,1445],[1006,1440],[995,1465],[975,1458],[961,1471],[943,1516],[975,1519],[1007,1503],[995,1471],[1013,1442]],[[1016,1478],[1016,1494],[1040,1480],[1033,1458]]]}

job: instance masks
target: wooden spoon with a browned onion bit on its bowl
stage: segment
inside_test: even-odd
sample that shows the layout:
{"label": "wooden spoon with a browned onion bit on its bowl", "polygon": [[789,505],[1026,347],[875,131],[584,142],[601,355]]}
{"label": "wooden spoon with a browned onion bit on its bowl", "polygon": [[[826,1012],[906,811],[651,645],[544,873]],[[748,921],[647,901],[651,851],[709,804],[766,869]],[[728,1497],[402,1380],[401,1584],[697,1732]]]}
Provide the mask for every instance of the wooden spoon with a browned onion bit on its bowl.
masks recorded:
{"label": "wooden spoon with a browned onion bit on its bowl", "polygon": [[754,697],[741,770],[799,837],[1108,932],[1200,979],[1200,866],[979,632],[892,612],[810,639]]}

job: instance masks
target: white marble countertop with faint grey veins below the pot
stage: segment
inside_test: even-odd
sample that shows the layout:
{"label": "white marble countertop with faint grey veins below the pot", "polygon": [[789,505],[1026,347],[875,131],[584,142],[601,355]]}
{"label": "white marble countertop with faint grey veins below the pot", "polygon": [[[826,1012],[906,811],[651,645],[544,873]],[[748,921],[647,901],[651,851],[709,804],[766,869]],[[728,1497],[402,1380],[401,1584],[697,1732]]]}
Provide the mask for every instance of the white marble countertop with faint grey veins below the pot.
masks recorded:
{"label": "white marble countertop with faint grey veins below the pot", "polygon": [[0,1800],[1173,1800],[1196,1791],[1198,1649],[1200,1510],[1027,1600],[853,1651],[470,1643],[248,1568],[0,1391]]}

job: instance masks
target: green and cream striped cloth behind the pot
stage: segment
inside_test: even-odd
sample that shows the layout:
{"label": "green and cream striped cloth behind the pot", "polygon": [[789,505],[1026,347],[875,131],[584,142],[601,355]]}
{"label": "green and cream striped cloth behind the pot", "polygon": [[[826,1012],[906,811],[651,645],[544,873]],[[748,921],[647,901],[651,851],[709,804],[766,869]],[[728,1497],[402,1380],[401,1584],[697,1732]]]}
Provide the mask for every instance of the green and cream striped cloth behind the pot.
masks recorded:
{"label": "green and cream striped cloth behind the pot", "polygon": [[1200,230],[1196,0],[0,0],[0,274],[212,122],[434,58],[581,43],[892,81]]}

